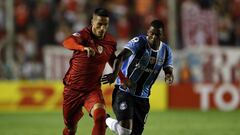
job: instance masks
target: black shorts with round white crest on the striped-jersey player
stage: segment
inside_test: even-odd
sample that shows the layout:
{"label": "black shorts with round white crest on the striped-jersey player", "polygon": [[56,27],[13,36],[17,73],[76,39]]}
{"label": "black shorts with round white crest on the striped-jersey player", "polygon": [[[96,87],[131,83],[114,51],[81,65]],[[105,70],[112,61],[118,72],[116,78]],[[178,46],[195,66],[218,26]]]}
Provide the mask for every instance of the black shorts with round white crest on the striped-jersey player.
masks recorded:
{"label": "black shorts with round white crest on the striped-jersey player", "polygon": [[133,119],[131,135],[141,135],[150,109],[149,99],[139,98],[127,92],[120,91],[115,86],[112,97],[112,107],[118,121]]}

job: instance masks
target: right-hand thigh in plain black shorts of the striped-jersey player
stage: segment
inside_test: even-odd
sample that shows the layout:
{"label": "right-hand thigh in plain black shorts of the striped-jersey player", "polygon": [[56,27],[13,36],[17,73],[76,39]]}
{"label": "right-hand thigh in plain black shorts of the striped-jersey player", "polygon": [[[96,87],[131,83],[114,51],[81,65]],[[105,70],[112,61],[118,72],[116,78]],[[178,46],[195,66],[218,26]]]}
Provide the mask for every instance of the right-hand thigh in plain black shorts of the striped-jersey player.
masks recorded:
{"label": "right-hand thigh in plain black shorts of the striped-jersey player", "polygon": [[150,109],[149,99],[135,98],[132,135],[141,135]]}

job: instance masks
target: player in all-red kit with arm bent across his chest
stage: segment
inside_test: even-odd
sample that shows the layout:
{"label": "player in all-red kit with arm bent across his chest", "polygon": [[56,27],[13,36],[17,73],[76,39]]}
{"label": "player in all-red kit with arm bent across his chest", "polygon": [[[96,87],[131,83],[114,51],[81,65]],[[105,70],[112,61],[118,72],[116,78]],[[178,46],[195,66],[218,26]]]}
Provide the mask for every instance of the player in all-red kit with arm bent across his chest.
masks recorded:
{"label": "player in all-red kit with arm bent across his chest", "polygon": [[90,26],[63,41],[65,48],[73,50],[70,67],[63,79],[63,135],[75,135],[77,123],[83,116],[82,107],[94,119],[92,135],[105,135],[106,112],[100,79],[105,64],[113,65],[117,44],[106,32],[108,25],[108,11],[98,8]]}

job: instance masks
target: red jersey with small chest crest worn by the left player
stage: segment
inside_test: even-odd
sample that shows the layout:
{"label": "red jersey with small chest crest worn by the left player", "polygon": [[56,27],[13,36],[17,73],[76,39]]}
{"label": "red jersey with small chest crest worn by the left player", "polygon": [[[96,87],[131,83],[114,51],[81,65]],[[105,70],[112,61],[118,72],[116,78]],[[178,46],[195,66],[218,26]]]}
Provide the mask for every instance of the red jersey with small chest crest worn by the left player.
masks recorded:
{"label": "red jersey with small chest crest worn by the left player", "polygon": [[74,50],[70,67],[63,79],[65,86],[80,91],[91,91],[101,87],[105,64],[115,58],[116,40],[108,33],[103,39],[94,37],[91,27],[87,27],[73,36],[79,44],[94,49],[95,56],[87,57],[87,53]]}

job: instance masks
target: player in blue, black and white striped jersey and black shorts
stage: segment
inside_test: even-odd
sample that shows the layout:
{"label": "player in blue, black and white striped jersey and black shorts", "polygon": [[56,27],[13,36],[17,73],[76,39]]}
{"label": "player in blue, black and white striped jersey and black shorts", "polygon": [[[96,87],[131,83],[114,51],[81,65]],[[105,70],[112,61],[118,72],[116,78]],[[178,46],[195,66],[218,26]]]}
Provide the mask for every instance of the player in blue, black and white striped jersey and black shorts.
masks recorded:
{"label": "player in blue, black and white striped jersey and black shorts", "polygon": [[[149,112],[149,96],[151,87],[161,69],[165,73],[165,81],[173,82],[172,51],[161,41],[163,23],[154,20],[146,35],[130,40],[117,56],[113,73],[102,77],[103,83],[113,83],[119,71],[126,79],[117,78],[113,91],[113,111],[117,120],[106,119],[110,130],[119,135],[141,135]],[[123,82],[123,83],[122,83]]]}

